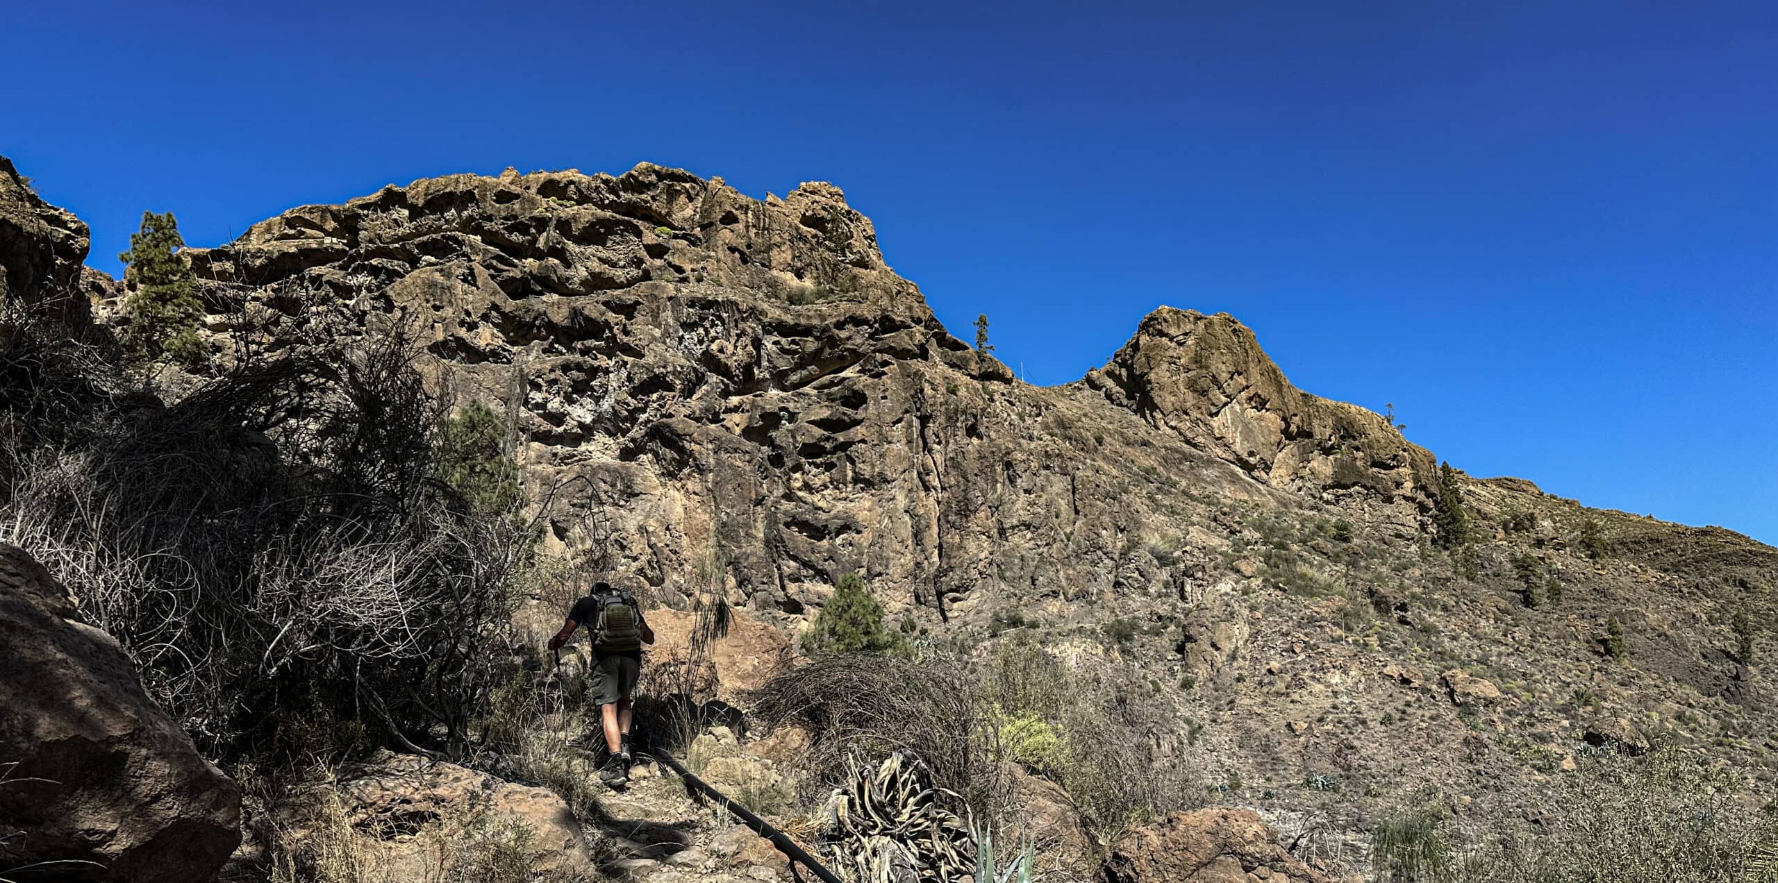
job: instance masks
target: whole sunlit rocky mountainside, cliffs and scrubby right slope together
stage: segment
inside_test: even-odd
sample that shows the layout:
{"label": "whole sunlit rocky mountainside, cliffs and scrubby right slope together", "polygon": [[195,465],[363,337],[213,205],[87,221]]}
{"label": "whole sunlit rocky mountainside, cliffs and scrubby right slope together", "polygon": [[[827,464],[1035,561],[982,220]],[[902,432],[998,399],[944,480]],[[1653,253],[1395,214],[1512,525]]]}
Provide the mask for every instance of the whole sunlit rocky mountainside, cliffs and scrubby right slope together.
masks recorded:
{"label": "whole sunlit rocky mountainside, cliffs and scrubby right slope together", "polygon": [[1428,787],[1533,819],[1590,743],[1778,760],[1778,551],[1467,476],[1476,542],[1437,549],[1435,457],[1234,318],[1161,307],[1081,382],[1028,386],[827,183],[448,176],[185,254],[213,370],[240,329],[411,329],[507,416],[557,547],[669,606],[725,574],[788,631],[857,570],[925,641],[1109,657],[1175,709],[1156,744],[1287,830]]}

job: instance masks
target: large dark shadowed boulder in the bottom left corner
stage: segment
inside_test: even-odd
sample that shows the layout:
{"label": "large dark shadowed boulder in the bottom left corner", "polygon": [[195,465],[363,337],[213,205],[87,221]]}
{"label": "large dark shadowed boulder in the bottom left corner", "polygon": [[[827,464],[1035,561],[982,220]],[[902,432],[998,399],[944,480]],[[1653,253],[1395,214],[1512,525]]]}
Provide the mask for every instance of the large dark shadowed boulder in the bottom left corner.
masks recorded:
{"label": "large dark shadowed boulder in the bottom left corner", "polygon": [[240,789],[142,689],[73,595],[0,545],[0,867],[57,879],[210,879],[240,844]]}

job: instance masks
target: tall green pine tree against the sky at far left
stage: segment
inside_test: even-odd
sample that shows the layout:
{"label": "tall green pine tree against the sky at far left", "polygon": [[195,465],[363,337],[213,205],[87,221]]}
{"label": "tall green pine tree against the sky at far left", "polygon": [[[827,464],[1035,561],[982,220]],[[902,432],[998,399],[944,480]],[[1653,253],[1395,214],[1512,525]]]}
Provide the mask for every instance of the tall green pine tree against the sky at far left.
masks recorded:
{"label": "tall green pine tree against the sky at far left", "polygon": [[178,256],[183,247],[172,211],[144,211],[142,229],[130,235],[130,251],[117,256],[130,286],[124,300],[130,309],[126,343],[140,361],[167,355],[192,364],[206,355],[204,341],[197,336],[204,304],[197,297],[192,268]]}

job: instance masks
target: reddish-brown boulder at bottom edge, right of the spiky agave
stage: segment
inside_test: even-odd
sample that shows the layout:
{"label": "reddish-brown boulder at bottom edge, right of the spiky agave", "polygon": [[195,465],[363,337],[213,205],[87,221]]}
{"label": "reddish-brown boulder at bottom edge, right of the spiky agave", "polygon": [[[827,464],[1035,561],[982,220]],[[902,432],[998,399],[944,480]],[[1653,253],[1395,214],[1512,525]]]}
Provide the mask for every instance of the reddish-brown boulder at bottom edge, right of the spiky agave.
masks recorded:
{"label": "reddish-brown boulder at bottom edge, right of the spiky agave", "polygon": [[1118,840],[1099,871],[1102,883],[1332,883],[1278,842],[1253,810],[1211,807],[1175,812]]}

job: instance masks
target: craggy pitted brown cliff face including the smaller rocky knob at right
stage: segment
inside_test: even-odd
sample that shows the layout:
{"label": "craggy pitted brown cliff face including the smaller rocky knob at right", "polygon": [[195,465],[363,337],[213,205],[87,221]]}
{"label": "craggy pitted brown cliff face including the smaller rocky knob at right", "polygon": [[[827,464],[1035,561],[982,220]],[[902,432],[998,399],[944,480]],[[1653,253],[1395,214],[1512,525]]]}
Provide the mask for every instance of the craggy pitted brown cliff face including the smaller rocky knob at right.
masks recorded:
{"label": "craggy pitted brown cliff face including the smaller rocky knob at right", "polygon": [[1149,485],[1367,492],[1419,531],[1424,451],[1296,393],[1239,325],[1159,311],[1086,384],[1019,384],[825,183],[756,201],[654,165],[448,176],[188,256],[213,302],[272,309],[279,345],[327,322],[416,329],[461,394],[514,414],[533,494],[558,489],[555,538],[667,601],[709,560],[791,615],[853,569],[893,613],[939,617],[996,586],[1175,592],[1182,572],[1129,556],[1156,517],[1129,490]]}

